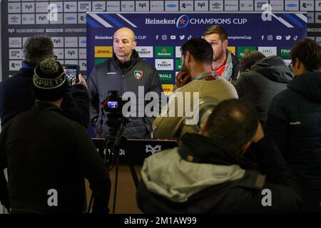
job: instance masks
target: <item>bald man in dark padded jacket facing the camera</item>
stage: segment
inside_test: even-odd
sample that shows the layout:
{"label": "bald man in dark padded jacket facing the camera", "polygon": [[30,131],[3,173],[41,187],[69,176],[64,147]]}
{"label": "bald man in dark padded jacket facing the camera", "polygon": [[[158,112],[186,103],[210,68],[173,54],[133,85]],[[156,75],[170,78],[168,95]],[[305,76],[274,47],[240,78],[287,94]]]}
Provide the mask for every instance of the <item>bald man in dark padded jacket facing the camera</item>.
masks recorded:
{"label": "bald man in dark padded jacket facing the camera", "polygon": [[[110,90],[118,90],[119,95],[128,91],[136,95],[136,113],[131,115],[131,123],[126,125],[123,135],[126,138],[150,138],[154,118],[138,113],[138,110],[145,110],[147,105],[146,100],[138,102],[138,88],[139,94],[144,97],[146,93],[154,91],[161,98],[163,90],[156,68],[138,56],[136,45],[135,33],[130,28],[119,28],[113,34],[113,57],[95,66],[91,72],[88,91],[91,123],[97,138],[109,135],[107,116],[103,113],[101,104]],[[131,103],[134,100],[131,99]]]}

